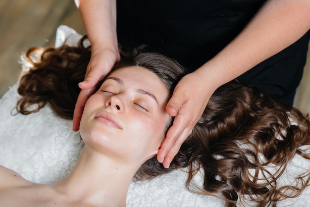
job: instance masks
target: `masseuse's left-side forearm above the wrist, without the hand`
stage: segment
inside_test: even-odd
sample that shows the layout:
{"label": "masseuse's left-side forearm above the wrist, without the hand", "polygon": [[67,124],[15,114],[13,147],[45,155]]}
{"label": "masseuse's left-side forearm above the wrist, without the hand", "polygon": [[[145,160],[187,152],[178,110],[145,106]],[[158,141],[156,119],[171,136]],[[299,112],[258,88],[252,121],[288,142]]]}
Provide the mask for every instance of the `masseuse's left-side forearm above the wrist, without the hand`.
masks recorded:
{"label": "masseuse's left-side forearm above the wrist, without the hand", "polygon": [[116,47],[116,0],[75,0],[93,47]]}

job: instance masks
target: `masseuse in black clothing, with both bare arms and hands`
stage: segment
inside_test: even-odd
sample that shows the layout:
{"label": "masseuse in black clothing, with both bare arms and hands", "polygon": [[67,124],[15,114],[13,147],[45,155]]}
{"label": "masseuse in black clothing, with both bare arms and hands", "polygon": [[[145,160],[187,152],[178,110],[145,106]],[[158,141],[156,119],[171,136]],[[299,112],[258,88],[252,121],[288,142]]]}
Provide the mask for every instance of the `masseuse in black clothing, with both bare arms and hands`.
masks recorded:
{"label": "masseuse in black clothing, with both bare arms and hands", "polygon": [[75,1],[92,57],[79,84],[74,130],[94,86],[119,60],[119,46],[145,44],[191,70],[166,107],[175,119],[157,156],[165,167],[224,83],[237,78],[293,103],[309,43],[310,0]]}

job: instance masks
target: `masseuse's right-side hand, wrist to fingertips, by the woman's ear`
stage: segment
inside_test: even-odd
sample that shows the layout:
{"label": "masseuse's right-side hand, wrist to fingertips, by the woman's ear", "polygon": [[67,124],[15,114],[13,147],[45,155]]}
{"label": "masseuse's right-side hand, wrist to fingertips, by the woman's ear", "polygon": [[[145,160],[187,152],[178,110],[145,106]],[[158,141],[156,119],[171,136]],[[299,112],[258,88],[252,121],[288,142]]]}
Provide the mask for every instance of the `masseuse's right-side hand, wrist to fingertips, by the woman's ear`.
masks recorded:
{"label": "masseuse's right-side hand, wrist to fingertips, by the woman's ear", "polygon": [[166,168],[192,133],[214,92],[213,89],[208,90],[206,85],[203,76],[195,71],[184,76],[174,89],[166,110],[175,119],[157,155],[158,161]]}

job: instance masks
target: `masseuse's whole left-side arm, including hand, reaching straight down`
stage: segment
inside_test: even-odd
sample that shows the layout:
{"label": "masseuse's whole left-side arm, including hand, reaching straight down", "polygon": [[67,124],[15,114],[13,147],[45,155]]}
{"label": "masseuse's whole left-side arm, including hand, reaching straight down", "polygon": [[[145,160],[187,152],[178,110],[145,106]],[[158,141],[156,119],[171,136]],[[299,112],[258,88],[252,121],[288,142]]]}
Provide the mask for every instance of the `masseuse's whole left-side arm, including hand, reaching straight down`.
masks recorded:
{"label": "masseuse's whole left-side arm, including hand, reaching straight down", "polygon": [[116,0],[75,0],[75,3],[92,45],[91,60],[85,80],[79,84],[82,90],[74,110],[73,130],[77,131],[87,99],[120,56],[116,36]]}

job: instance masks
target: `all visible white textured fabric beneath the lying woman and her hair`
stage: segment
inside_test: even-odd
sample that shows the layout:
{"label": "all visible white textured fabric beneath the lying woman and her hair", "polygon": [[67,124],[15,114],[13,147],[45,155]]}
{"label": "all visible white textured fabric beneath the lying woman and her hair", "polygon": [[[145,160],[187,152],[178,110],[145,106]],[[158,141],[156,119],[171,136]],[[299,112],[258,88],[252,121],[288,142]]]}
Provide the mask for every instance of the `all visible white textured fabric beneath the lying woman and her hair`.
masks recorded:
{"label": "all visible white textured fabric beneath the lying woman and her hair", "polygon": [[[62,25],[57,30],[56,46],[64,40],[68,45],[75,45],[80,37],[80,34]],[[33,182],[56,182],[71,172],[84,144],[79,133],[71,130],[72,121],[57,117],[49,106],[29,115],[16,114],[14,106],[19,98],[17,85],[12,86],[0,100],[0,165],[17,171]],[[296,176],[309,169],[310,161],[296,155],[279,184],[291,184]],[[220,199],[190,193],[185,188],[185,181],[186,173],[177,170],[151,181],[132,183],[127,206],[224,206]],[[196,181],[201,183],[201,177],[196,177]],[[309,207],[309,198],[310,187],[307,187],[301,196],[280,202],[279,207]]]}

